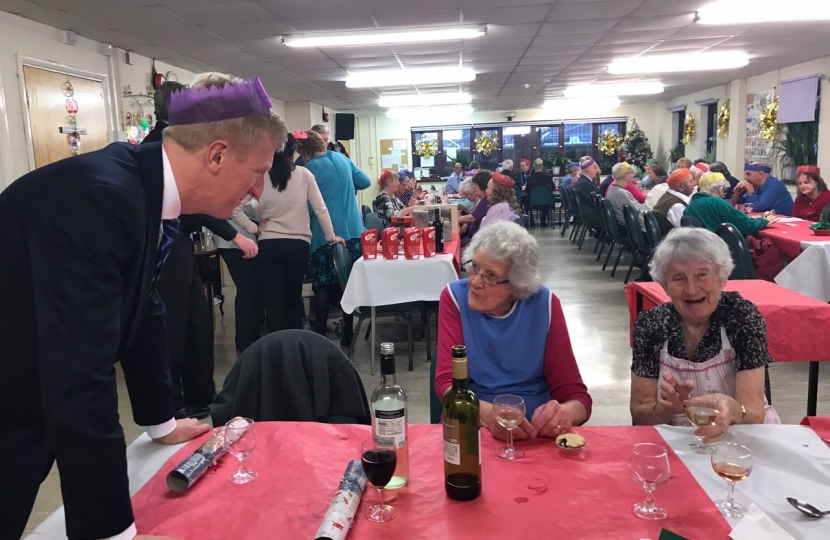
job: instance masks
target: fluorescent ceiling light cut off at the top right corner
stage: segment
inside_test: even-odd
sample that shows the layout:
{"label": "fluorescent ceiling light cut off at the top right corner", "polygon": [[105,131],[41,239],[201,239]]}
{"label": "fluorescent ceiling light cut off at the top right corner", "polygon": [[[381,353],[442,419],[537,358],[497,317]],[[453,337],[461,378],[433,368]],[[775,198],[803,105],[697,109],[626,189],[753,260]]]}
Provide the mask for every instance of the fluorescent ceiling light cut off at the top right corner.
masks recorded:
{"label": "fluorescent ceiling light cut off at the top right corner", "polygon": [[754,24],[830,20],[827,0],[720,0],[697,12],[698,24]]}

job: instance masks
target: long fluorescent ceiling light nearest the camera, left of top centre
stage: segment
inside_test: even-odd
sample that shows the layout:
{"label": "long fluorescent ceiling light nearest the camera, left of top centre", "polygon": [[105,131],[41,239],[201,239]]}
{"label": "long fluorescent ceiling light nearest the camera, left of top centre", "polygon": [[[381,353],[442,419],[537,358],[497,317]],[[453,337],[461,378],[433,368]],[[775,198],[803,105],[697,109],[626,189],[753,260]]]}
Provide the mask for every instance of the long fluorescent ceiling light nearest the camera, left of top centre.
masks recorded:
{"label": "long fluorescent ceiling light nearest the camera, left of top centre", "polygon": [[284,36],[286,47],[350,47],[383,45],[387,43],[423,43],[426,41],[456,41],[473,39],[487,34],[487,25],[432,26],[423,28],[396,28],[356,32],[324,32]]}

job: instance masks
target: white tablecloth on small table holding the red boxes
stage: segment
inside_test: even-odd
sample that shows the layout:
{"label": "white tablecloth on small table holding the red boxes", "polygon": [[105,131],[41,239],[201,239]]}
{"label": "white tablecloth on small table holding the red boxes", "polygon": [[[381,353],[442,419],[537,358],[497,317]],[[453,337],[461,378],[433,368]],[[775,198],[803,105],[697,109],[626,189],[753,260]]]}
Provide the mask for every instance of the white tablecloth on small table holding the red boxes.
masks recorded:
{"label": "white tablecloth on small table holding the red boxes", "polygon": [[405,302],[436,302],[448,283],[458,279],[452,255],[407,260],[358,259],[340,305],[351,313],[358,306],[388,306]]}

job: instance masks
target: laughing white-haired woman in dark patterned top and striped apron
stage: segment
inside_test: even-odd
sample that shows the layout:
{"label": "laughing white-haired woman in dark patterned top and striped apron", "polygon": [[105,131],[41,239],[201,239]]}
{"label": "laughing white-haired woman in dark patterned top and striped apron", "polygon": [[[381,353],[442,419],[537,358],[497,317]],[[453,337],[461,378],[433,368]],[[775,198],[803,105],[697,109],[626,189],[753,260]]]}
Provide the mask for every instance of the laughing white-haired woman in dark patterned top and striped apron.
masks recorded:
{"label": "laughing white-haired woman in dark patterned top and striped apron", "polygon": [[671,302],[643,311],[634,324],[631,417],[637,425],[690,426],[684,407],[718,411],[695,433],[717,440],[731,424],[780,424],[767,404],[772,362],[764,318],[752,302],[723,292],[729,248],[715,233],[672,230],[649,263]]}

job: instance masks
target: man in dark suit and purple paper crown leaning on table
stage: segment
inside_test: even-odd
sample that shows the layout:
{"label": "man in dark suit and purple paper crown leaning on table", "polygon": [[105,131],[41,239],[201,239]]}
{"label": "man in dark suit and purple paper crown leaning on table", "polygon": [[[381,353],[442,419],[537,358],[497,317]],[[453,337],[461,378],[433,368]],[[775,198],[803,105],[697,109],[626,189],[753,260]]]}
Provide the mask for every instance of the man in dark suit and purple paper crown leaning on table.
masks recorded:
{"label": "man in dark suit and purple paper crown leaning on table", "polygon": [[258,80],[206,74],[174,94],[163,144],[111,144],[0,193],[0,538],[21,536],[55,461],[70,540],[137,534],[115,362],[156,442],[209,429],[173,419],[156,280],[180,214],[227,218],[262,192],[286,135],[270,106]]}

